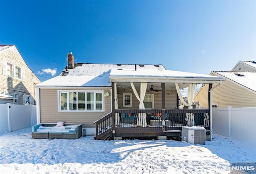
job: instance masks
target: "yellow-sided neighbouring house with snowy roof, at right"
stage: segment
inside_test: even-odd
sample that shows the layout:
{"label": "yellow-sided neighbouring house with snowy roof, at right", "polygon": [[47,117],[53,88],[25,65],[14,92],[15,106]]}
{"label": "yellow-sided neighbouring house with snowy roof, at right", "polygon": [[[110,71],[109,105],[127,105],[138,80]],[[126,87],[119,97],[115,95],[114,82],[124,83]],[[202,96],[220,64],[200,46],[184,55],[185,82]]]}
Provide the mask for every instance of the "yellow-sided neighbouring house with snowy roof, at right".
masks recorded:
{"label": "yellow-sided neighbouring house with snowy roof, at right", "polygon": [[[212,76],[226,78],[221,86],[214,90],[213,107],[256,107],[256,62],[239,61],[231,71],[212,71]],[[208,84],[203,85],[194,98],[200,107],[208,108]]]}

